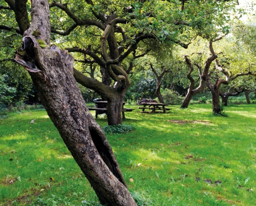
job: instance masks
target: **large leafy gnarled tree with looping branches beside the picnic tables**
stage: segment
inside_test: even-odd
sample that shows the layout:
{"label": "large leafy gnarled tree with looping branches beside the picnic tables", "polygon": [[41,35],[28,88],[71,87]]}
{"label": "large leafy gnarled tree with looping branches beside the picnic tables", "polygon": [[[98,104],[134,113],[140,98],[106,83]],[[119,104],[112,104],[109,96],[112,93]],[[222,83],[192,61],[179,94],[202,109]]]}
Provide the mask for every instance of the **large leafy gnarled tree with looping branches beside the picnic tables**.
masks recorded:
{"label": "large leafy gnarled tree with looping branches beside the picnic tables", "polygon": [[[23,35],[30,24],[27,1],[5,2],[9,6],[1,8],[16,19],[19,27],[13,27],[14,21],[4,21],[6,25],[0,28]],[[87,77],[74,68],[74,77],[80,84],[108,100],[109,125],[122,124],[122,104],[131,84],[128,73],[132,69],[132,62],[126,59],[132,61],[131,56],[140,56],[159,43],[172,42],[187,48],[195,36],[209,33],[215,26],[224,28],[228,11],[235,3],[217,0],[204,4],[178,0],[53,1],[49,5],[51,38],[69,52],[83,54],[85,62],[96,63],[101,68],[102,77],[108,74],[107,79],[117,82],[115,87],[110,87],[109,83]]]}

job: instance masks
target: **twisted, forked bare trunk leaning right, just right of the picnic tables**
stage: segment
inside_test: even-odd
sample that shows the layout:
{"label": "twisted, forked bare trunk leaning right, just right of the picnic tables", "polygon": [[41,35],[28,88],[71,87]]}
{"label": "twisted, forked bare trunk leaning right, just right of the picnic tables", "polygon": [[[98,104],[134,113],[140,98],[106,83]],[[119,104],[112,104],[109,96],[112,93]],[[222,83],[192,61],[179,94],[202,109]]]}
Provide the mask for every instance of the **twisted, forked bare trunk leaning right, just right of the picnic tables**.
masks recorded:
{"label": "twisted, forked bare trunk leaning right, just right of the picnic tables", "polygon": [[[209,57],[207,59],[207,61],[213,61],[213,60],[214,60],[214,58],[212,58],[212,57]],[[194,79],[191,77],[191,73],[193,72],[194,68],[193,68],[191,60],[188,58],[188,56],[185,56],[185,61],[189,66],[189,72],[188,72],[187,77],[190,80],[190,84],[189,84],[189,88],[188,88],[188,93],[187,93],[185,99],[182,102],[182,106],[180,106],[181,108],[187,108],[188,105],[189,105],[190,100],[192,99],[192,97],[195,94],[198,94],[199,92],[203,91],[204,85],[205,85],[205,80],[202,78],[202,67],[199,64],[195,63],[195,65],[198,67],[198,73],[199,73],[199,77],[200,77],[200,84],[196,89],[193,90]],[[209,66],[209,65],[210,65],[210,63],[205,64],[204,70],[208,70],[207,66]]]}

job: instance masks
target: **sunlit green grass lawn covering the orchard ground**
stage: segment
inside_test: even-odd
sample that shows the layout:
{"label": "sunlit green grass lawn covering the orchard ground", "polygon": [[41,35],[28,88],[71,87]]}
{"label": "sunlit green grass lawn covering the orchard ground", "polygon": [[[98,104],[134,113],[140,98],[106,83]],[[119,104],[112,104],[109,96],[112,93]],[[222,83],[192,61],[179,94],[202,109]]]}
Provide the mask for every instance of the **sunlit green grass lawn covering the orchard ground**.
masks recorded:
{"label": "sunlit green grass lawn covering the orchard ground", "polygon": [[[256,204],[256,105],[127,107],[136,130],[107,137],[139,205]],[[0,164],[0,205],[99,204],[46,111],[0,120]]]}

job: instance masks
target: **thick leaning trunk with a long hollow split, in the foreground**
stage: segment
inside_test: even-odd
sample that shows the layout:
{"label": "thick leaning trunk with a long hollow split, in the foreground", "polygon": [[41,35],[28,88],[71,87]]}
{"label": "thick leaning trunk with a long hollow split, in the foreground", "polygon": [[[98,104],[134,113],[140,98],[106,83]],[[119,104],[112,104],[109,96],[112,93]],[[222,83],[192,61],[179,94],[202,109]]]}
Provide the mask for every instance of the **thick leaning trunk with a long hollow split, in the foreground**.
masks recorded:
{"label": "thick leaning trunk with a long hollow split, in the foreground", "polygon": [[[47,0],[32,1],[32,23],[16,62],[26,68],[49,117],[102,204],[137,205],[106,136],[89,113],[73,77],[73,57],[50,44]],[[32,34],[37,33],[36,37]]]}

